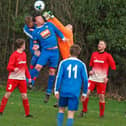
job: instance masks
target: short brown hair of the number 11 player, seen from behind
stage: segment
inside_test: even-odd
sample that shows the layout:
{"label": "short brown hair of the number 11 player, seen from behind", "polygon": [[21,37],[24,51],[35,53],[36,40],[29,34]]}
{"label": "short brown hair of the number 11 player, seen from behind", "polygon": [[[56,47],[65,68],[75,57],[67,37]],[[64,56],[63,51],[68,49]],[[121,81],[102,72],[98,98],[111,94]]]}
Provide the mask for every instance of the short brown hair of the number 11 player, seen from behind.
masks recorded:
{"label": "short brown hair of the number 11 player, seen from behind", "polygon": [[78,57],[80,55],[80,51],[81,51],[81,48],[77,44],[72,45],[71,48],[70,48],[70,54],[71,54],[71,56]]}

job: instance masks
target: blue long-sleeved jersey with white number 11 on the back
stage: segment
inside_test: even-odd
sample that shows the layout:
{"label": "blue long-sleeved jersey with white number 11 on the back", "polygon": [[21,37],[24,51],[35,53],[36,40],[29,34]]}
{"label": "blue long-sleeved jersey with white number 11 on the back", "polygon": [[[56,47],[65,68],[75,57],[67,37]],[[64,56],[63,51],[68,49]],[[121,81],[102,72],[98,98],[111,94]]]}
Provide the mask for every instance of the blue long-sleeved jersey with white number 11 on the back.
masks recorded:
{"label": "blue long-sleeved jersey with white number 11 on the back", "polygon": [[81,88],[87,94],[88,76],[85,64],[70,57],[60,62],[55,82],[55,93],[63,97],[79,97]]}

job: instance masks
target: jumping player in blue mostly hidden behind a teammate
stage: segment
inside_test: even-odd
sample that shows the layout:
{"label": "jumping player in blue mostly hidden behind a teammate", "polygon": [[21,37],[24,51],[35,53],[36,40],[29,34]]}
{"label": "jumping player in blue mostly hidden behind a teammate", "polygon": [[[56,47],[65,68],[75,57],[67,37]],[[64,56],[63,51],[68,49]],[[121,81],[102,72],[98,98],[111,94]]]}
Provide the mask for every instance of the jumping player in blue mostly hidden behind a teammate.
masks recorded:
{"label": "jumping player in blue mostly hidden behind a teammate", "polygon": [[32,59],[31,59],[31,62],[30,62],[30,69],[34,68],[34,66],[35,66],[35,64],[38,60],[38,57],[40,55],[39,52],[35,53],[35,51],[33,49],[33,31],[34,31],[34,29],[36,29],[36,26],[33,22],[32,16],[26,16],[23,31],[29,37],[29,41],[30,41],[30,52],[31,52],[31,55],[32,55]]}

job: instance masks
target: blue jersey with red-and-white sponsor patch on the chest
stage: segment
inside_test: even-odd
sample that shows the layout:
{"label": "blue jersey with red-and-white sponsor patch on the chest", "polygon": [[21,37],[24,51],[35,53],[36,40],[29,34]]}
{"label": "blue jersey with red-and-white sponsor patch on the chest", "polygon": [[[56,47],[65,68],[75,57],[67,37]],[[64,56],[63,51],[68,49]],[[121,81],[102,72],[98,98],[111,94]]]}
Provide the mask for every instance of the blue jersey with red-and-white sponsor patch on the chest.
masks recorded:
{"label": "blue jersey with red-and-white sponsor patch on the chest", "polygon": [[47,49],[57,46],[57,35],[63,39],[64,35],[52,23],[47,22],[33,32],[33,40],[39,41],[40,47]]}

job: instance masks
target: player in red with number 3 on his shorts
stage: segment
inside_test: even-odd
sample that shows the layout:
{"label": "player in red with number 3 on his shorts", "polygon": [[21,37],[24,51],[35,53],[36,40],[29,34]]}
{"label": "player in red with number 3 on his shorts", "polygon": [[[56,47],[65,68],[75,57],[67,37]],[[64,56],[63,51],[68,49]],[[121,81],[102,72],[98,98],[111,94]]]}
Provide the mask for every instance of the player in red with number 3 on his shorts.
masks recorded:
{"label": "player in red with number 3 on his shorts", "polygon": [[16,87],[18,87],[23,101],[26,117],[32,117],[29,110],[29,102],[27,97],[26,77],[31,81],[31,76],[26,63],[25,40],[17,39],[15,42],[17,50],[10,56],[7,70],[9,71],[6,93],[1,101],[0,115],[3,114],[7,101]]}

